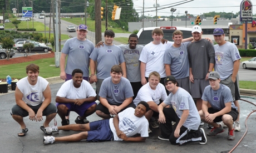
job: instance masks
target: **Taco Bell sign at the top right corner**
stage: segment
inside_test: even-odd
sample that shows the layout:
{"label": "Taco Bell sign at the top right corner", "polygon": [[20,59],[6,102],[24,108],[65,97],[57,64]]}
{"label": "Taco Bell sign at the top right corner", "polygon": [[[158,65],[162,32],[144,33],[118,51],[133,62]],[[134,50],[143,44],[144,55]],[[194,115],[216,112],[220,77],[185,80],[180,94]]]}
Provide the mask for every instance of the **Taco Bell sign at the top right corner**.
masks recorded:
{"label": "Taco Bell sign at the top right corner", "polygon": [[243,0],[240,4],[240,21],[253,21],[253,4],[250,0]]}

